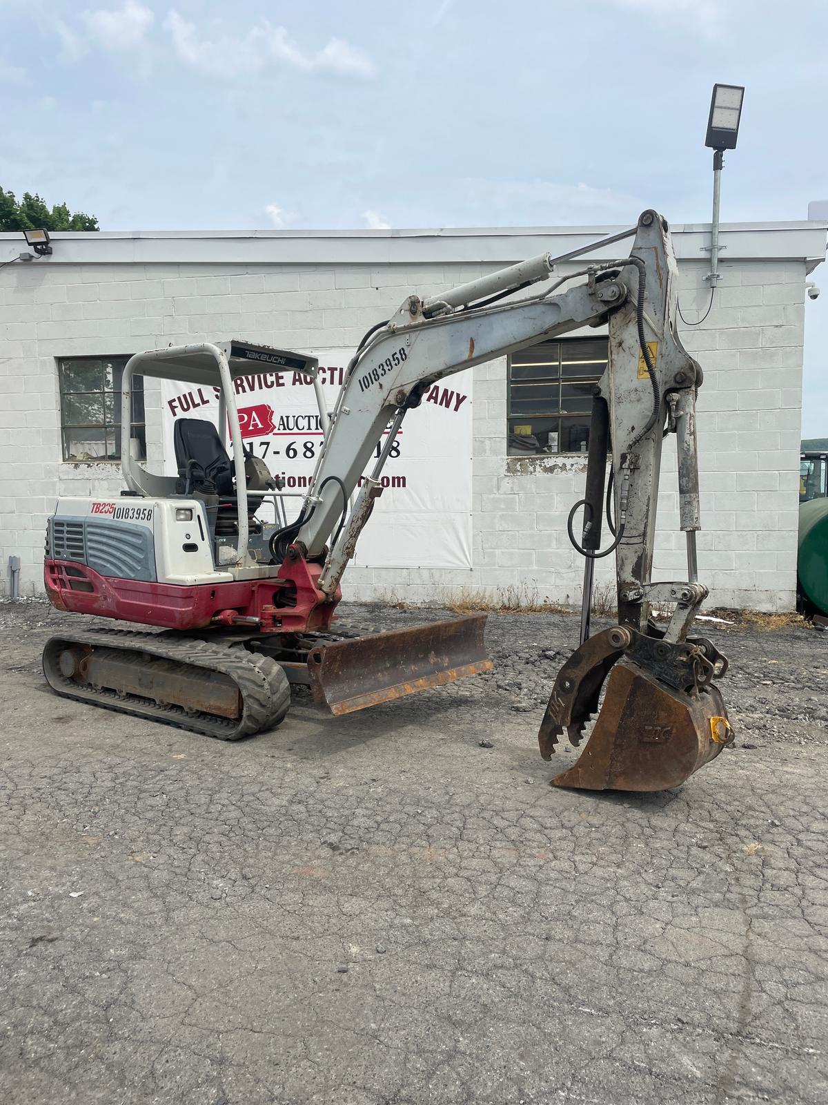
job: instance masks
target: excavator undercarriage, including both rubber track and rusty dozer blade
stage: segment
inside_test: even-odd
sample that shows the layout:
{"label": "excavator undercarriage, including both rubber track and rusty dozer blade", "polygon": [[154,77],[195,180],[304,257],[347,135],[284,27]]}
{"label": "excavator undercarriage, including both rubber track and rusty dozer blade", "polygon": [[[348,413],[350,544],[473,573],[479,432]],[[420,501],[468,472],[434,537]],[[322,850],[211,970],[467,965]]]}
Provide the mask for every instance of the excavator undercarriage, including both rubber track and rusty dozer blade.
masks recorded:
{"label": "excavator undercarriage, including both rubber track and rusty dozer blade", "polygon": [[485,624],[471,614],[367,635],[63,632],[46,642],[43,673],[64,697],[238,740],[284,720],[291,684],[341,715],[490,671]]}

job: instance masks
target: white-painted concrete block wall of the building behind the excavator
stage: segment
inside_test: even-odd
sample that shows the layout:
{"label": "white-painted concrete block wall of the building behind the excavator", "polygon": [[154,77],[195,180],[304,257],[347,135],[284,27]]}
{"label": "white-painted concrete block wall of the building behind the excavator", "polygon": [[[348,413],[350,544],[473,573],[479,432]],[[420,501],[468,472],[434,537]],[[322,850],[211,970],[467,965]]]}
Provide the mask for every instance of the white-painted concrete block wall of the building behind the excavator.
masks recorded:
{"label": "white-painted concrete block wall of the building behind the excavator", "polygon": [[[438,293],[499,265],[10,265],[0,273],[0,564],[22,560],[24,593],[42,591],[45,520],[59,495],[110,497],[110,464],[61,462],[56,358],[233,336],[286,347],[353,347],[413,291]],[[703,261],[680,266],[681,307],[704,313]],[[714,308],[682,327],[701,362],[700,576],[711,603],[792,609],[796,586],[804,262],[724,263]],[[594,333],[594,332],[591,332]],[[511,588],[577,602],[583,562],[565,519],[585,459],[508,457],[506,360],[480,366],[473,390],[474,567],[352,568],[353,598],[412,602],[447,591]],[[160,462],[159,396],[147,391],[148,461]],[[666,442],[656,570],[683,578],[672,440]],[[380,514],[372,524],[380,523]],[[598,582],[612,579],[602,561]]]}

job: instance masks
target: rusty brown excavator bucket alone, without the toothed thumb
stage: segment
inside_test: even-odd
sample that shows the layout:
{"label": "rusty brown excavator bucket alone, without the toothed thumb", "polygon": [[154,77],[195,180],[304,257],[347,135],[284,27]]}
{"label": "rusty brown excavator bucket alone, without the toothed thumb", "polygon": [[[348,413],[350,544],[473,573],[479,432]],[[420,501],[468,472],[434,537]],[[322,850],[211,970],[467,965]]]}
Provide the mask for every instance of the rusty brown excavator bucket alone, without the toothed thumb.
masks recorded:
{"label": "rusty brown excavator bucket alone, without the toothed thumb", "polygon": [[573,767],[552,780],[581,790],[668,790],[733,739],[714,686],[673,691],[637,665],[609,673],[604,704]]}

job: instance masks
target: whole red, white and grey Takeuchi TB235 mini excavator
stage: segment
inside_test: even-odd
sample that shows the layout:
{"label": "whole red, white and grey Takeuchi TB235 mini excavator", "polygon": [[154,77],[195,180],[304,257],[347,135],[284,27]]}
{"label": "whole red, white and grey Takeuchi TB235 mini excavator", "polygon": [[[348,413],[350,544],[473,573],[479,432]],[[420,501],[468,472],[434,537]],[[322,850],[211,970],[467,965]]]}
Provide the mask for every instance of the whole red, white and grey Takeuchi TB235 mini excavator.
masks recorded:
{"label": "whole red, white and grey Takeuchi TB235 mini excavator", "polygon": [[[559,262],[631,236],[629,256],[555,278]],[[532,285],[540,286],[510,298]],[[43,655],[50,685],[81,702],[234,740],[278,725],[291,683],[309,685],[318,703],[344,714],[489,670],[482,614],[363,638],[338,632],[342,573],[382,493],[403,419],[436,380],[606,324],[608,366],[593,400],[586,490],[567,524],[585,558],[581,642],[555,680],[540,750],[549,759],[564,732],[578,745],[603,691],[578,760],[553,781],[645,791],[681,783],[732,740],[732,729],[713,682],[726,661],[710,641],[690,635],[708,593],[696,569],[702,373],[677,336],[676,294],[668,225],[645,211],[631,230],[564,257],[543,254],[438,296],[408,296],[360,343],[330,415],[317,386],[323,442],[293,522],[284,488],[262,460],[245,454],[233,378],[255,367],[316,380],[317,361],[236,340],[131,357],[121,390],[127,490],[115,501],[60,499],[44,573],[61,610],[156,629],[60,632]],[[130,452],[134,373],[220,389],[219,429],[177,422],[177,476],[150,473]],[[668,433],[678,444],[688,579],[652,582]],[[257,518],[265,498],[274,499],[274,523]],[[602,551],[605,512],[613,538]],[[618,624],[591,635],[593,567],[611,552]],[[654,603],[672,604],[666,629],[650,617]]]}

